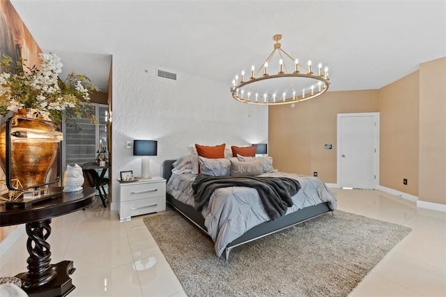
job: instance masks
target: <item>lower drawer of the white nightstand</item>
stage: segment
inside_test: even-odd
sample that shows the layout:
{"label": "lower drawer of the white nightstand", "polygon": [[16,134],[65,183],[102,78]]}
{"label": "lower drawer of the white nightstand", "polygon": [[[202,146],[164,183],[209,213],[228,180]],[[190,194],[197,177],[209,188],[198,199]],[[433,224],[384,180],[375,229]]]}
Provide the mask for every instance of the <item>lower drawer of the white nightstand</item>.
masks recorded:
{"label": "lower drawer of the white nightstand", "polygon": [[146,213],[156,213],[157,211],[165,210],[165,196],[121,202],[121,213],[119,213],[119,218],[121,220],[130,220],[130,217],[134,215],[144,215]]}

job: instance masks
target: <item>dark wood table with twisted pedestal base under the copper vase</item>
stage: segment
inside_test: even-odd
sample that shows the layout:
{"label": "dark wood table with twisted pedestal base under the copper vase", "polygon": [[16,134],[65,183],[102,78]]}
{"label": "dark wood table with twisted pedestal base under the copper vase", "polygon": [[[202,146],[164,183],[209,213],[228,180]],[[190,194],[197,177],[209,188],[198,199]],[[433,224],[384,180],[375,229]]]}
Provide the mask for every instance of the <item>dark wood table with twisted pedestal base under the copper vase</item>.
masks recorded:
{"label": "dark wood table with twisted pedestal base under the copper vase", "polygon": [[47,239],[51,234],[51,219],[79,211],[95,201],[95,189],[84,188],[78,192],[62,192],[61,187],[54,187],[61,194],[32,204],[28,208],[6,208],[0,205],[0,227],[13,224],[26,224],[26,259],[27,272],[15,277],[22,280],[22,289],[31,297],[66,296],[75,286],[70,275],[75,272],[72,261],[51,264],[51,252]]}

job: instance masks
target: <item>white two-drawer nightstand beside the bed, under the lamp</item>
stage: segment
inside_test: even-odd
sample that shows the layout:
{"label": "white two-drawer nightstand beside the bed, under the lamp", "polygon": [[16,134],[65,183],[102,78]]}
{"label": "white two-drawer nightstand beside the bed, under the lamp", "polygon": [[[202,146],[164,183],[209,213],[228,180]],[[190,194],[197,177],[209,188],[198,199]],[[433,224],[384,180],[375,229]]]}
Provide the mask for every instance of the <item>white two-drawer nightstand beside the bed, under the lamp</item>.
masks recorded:
{"label": "white two-drawer nightstand beside the bed, under the lamp", "polygon": [[151,179],[119,183],[119,219],[128,221],[134,215],[166,210],[166,180]]}

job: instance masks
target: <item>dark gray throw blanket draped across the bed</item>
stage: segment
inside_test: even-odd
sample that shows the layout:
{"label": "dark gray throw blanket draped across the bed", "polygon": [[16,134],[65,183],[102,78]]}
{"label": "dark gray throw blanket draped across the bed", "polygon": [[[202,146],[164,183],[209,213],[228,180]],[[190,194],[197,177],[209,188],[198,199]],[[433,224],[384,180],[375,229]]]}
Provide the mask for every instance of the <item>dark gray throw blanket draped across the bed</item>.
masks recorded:
{"label": "dark gray throw blanket draped across the bed", "polygon": [[293,206],[292,196],[300,190],[300,183],[293,178],[259,176],[208,176],[198,174],[192,183],[195,209],[201,211],[214,190],[228,187],[249,187],[259,192],[259,197],[271,220],[281,217]]}

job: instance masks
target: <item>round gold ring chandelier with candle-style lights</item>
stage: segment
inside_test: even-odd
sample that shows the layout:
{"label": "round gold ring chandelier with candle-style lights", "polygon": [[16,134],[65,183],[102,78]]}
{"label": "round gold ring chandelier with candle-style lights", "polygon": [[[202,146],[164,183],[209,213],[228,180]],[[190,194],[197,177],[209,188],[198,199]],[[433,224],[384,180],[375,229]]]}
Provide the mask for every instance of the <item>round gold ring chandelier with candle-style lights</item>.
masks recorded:
{"label": "round gold ring chandelier with candle-style lights", "polygon": [[[298,59],[293,59],[282,49],[281,39],[280,34],[273,37],[274,50],[259,68],[252,66],[251,77],[246,77],[244,70],[240,80],[236,75],[231,86],[234,99],[256,105],[282,105],[316,98],[328,90],[328,67],[322,69],[319,63],[316,74],[313,73],[312,61],[308,61],[308,68],[302,66]],[[272,65],[274,62],[275,66]],[[276,70],[272,70],[274,68]],[[268,70],[278,72],[270,74]]]}

